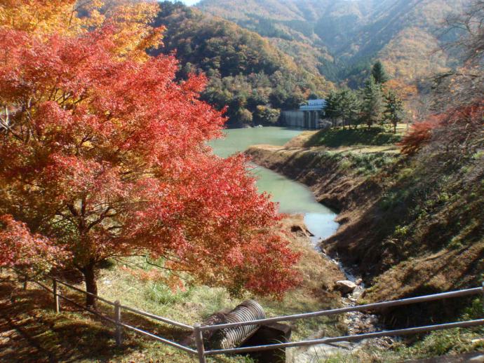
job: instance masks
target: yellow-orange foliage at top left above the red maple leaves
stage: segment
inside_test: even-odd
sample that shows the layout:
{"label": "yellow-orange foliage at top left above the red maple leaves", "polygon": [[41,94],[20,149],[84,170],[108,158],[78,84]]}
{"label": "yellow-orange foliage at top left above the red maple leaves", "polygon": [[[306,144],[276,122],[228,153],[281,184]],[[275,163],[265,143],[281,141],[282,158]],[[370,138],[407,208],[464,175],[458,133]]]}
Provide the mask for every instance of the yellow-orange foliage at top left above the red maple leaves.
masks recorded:
{"label": "yellow-orange foliage at top left above the red maple leaves", "polygon": [[142,1],[0,0],[0,24],[39,36],[76,36],[112,25],[116,55],[144,61],[144,50],[159,46],[163,38],[163,28],[149,25],[158,11],[156,2]]}

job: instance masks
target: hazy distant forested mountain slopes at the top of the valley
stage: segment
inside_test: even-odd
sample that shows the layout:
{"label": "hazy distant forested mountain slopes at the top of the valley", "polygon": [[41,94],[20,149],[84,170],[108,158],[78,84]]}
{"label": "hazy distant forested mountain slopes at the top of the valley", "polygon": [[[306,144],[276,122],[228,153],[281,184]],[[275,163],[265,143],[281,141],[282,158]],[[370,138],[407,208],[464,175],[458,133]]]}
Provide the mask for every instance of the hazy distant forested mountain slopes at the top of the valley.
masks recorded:
{"label": "hazy distant forested mountain slopes at the top of the valley", "polygon": [[361,83],[379,57],[391,76],[405,81],[452,66],[433,53],[453,34],[443,20],[469,0],[203,0],[203,11],[269,38],[308,71],[332,81]]}

